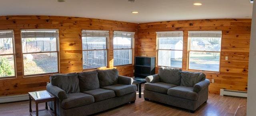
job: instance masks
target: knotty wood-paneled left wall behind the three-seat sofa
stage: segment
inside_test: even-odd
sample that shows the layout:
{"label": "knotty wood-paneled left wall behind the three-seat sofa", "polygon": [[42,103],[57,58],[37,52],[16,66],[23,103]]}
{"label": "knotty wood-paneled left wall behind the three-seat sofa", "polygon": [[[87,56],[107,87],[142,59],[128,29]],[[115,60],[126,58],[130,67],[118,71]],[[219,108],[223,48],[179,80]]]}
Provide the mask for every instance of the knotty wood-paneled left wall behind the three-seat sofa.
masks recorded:
{"label": "knotty wood-paneled left wall behind the three-seat sofa", "polygon": [[[64,16],[0,16],[0,30],[14,30],[17,78],[0,80],[0,96],[27,94],[45,90],[49,75],[23,77],[21,29],[59,29],[60,73],[82,72],[82,29],[109,30],[108,68],[117,68],[120,75],[133,76],[134,66],[114,67],[113,31],[135,33],[134,55],[138,54],[138,24],[92,18]],[[102,68],[106,69],[106,68]]]}

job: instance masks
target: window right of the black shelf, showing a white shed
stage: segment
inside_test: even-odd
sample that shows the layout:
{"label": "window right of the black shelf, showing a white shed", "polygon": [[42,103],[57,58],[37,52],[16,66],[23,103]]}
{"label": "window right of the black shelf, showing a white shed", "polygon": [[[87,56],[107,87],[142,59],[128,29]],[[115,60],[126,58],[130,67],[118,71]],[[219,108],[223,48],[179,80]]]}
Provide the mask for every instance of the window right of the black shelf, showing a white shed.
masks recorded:
{"label": "window right of the black shelf, showing a white shed", "polygon": [[156,32],[158,66],[182,68],[183,32]]}

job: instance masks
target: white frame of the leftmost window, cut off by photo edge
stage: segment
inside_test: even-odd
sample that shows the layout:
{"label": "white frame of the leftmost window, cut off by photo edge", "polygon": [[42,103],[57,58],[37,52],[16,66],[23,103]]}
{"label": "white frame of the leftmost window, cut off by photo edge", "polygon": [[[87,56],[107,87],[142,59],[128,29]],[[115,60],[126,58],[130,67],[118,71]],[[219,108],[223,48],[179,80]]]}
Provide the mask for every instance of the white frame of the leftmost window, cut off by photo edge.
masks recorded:
{"label": "white frame of the leftmost window, cut off by photo edge", "polygon": [[[13,56],[14,60],[14,76],[5,76],[0,77],[0,79],[6,79],[6,78],[16,78],[16,55],[15,55],[15,40],[14,40],[14,31],[13,30],[0,30],[0,32],[11,32],[12,34],[1,34],[0,39],[2,38],[12,38],[12,54],[0,54],[0,56]],[[5,37],[6,36],[6,37]]]}

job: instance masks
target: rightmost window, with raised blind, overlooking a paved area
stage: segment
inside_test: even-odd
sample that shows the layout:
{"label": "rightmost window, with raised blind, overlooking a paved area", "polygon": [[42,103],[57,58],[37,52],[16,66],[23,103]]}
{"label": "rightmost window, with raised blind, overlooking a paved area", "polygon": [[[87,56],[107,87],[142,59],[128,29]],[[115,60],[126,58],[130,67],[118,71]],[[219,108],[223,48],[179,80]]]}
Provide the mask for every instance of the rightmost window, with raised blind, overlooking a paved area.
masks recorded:
{"label": "rightmost window, with raised blind, overlooking a paved area", "polygon": [[221,31],[188,32],[188,69],[220,71]]}

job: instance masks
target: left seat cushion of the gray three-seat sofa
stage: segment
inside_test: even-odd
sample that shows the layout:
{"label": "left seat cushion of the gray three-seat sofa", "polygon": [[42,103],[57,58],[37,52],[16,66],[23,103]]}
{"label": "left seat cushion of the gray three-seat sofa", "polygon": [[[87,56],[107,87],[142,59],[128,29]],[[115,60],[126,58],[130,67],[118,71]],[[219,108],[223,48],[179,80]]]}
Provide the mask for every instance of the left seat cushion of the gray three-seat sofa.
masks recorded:
{"label": "left seat cushion of the gray three-seat sofa", "polygon": [[61,107],[63,109],[75,108],[94,103],[93,96],[84,93],[70,93],[67,98],[62,100]]}

